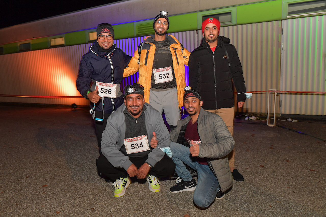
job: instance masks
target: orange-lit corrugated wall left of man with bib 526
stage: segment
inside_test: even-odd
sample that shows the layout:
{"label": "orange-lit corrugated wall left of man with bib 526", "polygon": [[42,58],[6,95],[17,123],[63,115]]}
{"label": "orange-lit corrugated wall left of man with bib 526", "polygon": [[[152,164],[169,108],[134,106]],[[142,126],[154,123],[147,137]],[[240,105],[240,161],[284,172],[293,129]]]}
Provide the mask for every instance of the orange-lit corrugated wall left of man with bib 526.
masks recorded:
{"label": "orange-lit corrugated wall left of man with bib 526", "polygon": [[[80,96],[76,78],[90,44],[56,47],[0,56],[1,94]],[[1,102],[88,105],[83,98],[0,97]]]}

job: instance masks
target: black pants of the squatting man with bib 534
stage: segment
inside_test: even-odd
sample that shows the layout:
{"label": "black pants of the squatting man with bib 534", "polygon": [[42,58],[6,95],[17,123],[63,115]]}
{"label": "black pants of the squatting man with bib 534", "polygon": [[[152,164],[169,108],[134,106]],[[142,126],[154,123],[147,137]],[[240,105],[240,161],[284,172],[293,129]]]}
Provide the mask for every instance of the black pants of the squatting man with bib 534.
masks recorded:
{"label": "black pants of the squatting man with bib 534", "polygon": [[[129,160],[135,164],[137,169],[141,167],[147,160],[147,156],[144,157],[129,157]],[[127,173],[124,168],[113,167],[112,164],[106,159],[104,155],[100,155],[96,159],[96,166],[99,172],[109,177],[113,182],[119,178],[127,178]],[[158,161],[153,168],[150,169],[149,174],[157,178],[166,177],[175,169],[175,164],[169,156],[166,154]]]}

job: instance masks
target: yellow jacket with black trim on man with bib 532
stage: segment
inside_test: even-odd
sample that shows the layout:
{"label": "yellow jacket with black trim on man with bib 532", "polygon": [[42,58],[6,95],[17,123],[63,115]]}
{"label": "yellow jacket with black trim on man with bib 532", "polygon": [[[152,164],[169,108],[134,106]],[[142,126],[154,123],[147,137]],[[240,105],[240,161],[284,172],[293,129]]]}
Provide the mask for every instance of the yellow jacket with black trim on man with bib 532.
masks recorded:
{"label": "yellow jacket with black trim on man with bib 532", "polygon": [[[166,36],[170,41],[170,51],[172,53],[173,70],[177,85],[179,108],[183,106],[183,94],[185,88],[185,66],[188,65],[190,52],[183,49],[180,42],[173,36]],[[144,89],[145,102],[149,103],[149,90],[151,89],[151,79],[153,70],[153,61],[155,54],[155,45],[151,43],[153,36],[147,36],[141,49],[141,57],[139,59],[138,50],[125,68],[123,76],[128,77],[139,71],[138,83]],[[148,49],[149,48],[149,49]],[[139,59],[139,61],[138,61]]]}

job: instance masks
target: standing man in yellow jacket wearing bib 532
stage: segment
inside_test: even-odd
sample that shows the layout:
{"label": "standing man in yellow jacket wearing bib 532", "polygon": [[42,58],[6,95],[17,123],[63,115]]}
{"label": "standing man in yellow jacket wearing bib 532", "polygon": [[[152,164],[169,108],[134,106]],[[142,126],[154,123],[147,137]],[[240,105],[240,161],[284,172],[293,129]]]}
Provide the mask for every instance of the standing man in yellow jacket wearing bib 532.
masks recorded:
{"label": "standing man in yellow jacket wearing bib 532", "polygon": [[145,102],[159,112],[174,129],[183,106],[185,66],[190,52],[172,35],[166,35],[170,21],[161,11],[153,22],[155,34],[147,36],[124,70],[124,77],[139,71],[138,83],[144,89]]}

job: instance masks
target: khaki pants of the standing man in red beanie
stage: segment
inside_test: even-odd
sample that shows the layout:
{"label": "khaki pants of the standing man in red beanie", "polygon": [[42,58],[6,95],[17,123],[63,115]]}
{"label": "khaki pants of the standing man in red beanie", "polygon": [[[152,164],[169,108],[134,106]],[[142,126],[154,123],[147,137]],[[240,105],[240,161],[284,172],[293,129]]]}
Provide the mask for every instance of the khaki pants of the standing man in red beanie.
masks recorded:
{"label": "khaki pants of the standing man in red beanie", "polygon": [[[205,109],[205,111],[215,113],[216,115],[220,115],[220,117],[225,122],[228,127],[231,136],[233,136],[233,118],[234,118],[234,108],[221,108],[221,109]],[[234,148],[228,155],[230,168],[234,167]]]}

